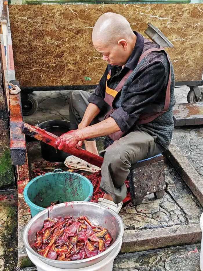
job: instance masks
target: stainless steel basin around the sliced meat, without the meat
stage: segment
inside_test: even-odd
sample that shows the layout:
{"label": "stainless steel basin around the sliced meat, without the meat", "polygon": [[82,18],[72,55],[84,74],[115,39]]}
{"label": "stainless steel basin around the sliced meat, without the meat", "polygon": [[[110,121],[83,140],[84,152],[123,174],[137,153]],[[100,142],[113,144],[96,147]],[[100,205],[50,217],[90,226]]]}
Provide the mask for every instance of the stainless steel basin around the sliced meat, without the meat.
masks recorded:
{"label": "stainless steel basin around the sliced meat, without the meat", "polygon": [[[57,261],[47,259],[39,255],[31,247],[31,244],[35,242],[36,232],[43,228],[45,219],[55,218],[57,216],[73,216],[74,218],[77,218],[78,216],[86,216],[93,224],[100,225],[108,229],[113,238],[111,246],[94,257],[77,261]],[[84,268],[103,260],[114,248],[118,246],[119,242],[122,240],[123,233],[124,225],[122,219],[117,213],[97,203],[75,201],[48,207],[34,216],[24,229],[23,242],[30,253],[37,256],[46,264],[57,268],[76,269]]]}

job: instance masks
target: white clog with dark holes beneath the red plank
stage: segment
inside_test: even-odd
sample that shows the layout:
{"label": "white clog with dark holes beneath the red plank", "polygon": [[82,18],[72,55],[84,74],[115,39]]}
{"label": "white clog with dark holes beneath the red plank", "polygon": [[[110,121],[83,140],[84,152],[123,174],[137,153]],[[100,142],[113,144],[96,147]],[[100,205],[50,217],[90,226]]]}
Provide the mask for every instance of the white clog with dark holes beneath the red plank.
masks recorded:
{"label": "white clog with dark holes beneath the red plank", "polygon": [[83,159],[80,159],[74,155],[70,155],[64,161],[64,164],[71,169],[79,169],[88,172],[98,172],[101,170],[98,166],[94,166]]}

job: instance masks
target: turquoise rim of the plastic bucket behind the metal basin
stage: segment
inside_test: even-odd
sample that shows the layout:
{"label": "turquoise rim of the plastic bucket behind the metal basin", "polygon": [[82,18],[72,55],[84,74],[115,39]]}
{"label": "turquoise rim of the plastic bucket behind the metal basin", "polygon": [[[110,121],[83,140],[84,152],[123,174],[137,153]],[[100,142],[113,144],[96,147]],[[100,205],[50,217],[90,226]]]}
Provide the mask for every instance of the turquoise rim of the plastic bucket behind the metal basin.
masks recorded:
{"label": "turquoise rim of the plastic bucket behind the metal basin", "polygon": [[73,173],[73,172],[68,172],[68,171],[48,172],[48,173],[45,173],[45,174],[42,174],[42,175],[39,175],[39,176],[35,177],[30,182],[28,182],[28,184],[26,185],[26,187],[25,187],[25,189],[23,191],[23,197],[24,197],[25,202],[28,204],[29,208],[30,208],[30,206],[32,206],[35,209],[38,209],[40,211],[43,211],[43,210],[48,208],[48,207],[47,208],[40,207],[40,206],[36,205],[34,202],[32,202],[28,197],[28,189],[29,189],[30,185],[33,184],[33,182],[37,181],[39,178],[44,177],[46,175],[52,175],[52,174],[58,174],[58,173],[65,173],[65,174],[70,174],[70,175],[76,175],[76,176],[79,176],[79,177],[83,177],[83,179],[86,182],[88,182],[88,184],[89,184],[90,192],[89,192],[88,196],[82,201],[89,201],[92,198],[92,196],[93,196],[93,185],[92,185],[92,183],[90,182],[90,180],[87,177],[85,177],[85,176],[83,176],[81,174],[78,174],[78,173]]}

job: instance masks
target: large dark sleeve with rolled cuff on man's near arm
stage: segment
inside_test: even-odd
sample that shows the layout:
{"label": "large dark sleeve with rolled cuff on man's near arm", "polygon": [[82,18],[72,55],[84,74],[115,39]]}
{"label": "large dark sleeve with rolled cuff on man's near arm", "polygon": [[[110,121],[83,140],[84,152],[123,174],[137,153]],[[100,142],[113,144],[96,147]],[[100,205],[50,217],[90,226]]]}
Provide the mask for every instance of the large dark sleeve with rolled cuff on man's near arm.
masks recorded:
{"label": "large dark sleeve with rolled cuff on man's near arm", "polygon": [[121,106],[110,114],[122,132],[136,124],[141,114],[163,110],[161,104],[166,97],[166,78],[162,62],[151,63],[136,75],[128,86]]}

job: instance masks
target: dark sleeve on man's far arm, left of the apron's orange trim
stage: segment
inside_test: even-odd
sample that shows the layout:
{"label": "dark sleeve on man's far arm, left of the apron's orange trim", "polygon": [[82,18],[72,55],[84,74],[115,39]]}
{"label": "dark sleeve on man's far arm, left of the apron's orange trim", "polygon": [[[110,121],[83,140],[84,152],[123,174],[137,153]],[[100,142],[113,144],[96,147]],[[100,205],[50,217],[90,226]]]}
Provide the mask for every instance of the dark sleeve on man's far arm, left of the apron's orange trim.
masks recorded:
{"label": "dark sleeve on man's far arm, left of the apron's orange trim", "polygon": [[106,67],[104,75],[102,76],[101,80],[99,81],[99,84],[95,89],[95,92],[88,98],[88,102],[94,103],[99,107],[99,109],[102,109],[104,106],[107,105],[107,103],[104,101],[107,74],[108,74],[108,65]]}

